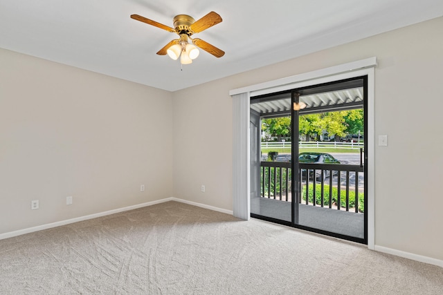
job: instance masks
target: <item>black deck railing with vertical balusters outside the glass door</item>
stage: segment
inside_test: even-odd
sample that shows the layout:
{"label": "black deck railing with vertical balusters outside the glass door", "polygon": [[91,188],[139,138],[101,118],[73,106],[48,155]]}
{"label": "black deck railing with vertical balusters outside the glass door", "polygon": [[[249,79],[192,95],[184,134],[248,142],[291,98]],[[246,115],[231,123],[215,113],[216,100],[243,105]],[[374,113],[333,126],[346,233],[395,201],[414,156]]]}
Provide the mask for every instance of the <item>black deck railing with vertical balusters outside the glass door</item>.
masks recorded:
{"label": "black deck railing with vertical balusters outside the glass door", "polygon": [[[262,198],[291,202],[291,162],[261,162]],[[364,211],[359,177],[363,167],[347,164],[299,164],[300,204],[330,209]]]}

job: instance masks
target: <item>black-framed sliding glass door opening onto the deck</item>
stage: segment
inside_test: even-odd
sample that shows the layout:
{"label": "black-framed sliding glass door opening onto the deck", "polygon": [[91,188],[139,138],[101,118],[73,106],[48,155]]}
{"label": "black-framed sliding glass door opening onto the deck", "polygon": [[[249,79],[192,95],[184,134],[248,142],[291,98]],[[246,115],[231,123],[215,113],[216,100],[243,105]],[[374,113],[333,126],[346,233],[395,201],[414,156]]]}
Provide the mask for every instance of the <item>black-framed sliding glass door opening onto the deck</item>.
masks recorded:
{"label": "black-framed sliding glass door opening onto the deck", "polygon": [[357,77],[251,98],[256,125],[260,117],[251,216],[367,243],[366,84]]}

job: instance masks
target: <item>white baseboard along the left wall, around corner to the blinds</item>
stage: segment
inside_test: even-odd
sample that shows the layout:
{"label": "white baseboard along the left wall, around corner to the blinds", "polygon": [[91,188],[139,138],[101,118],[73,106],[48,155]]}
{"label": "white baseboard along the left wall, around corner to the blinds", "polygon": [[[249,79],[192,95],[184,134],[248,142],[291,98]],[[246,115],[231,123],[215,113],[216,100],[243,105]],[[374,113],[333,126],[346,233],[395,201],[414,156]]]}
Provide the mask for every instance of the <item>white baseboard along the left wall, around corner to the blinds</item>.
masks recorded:
{"label": "white baseboard along the left wall, around corner to the blinds", "polygon": [[145,203],[136,204],[133,206],[104,211],[104,212],[100,212],[100,213],[94,213],[94,214],[87,215],[87,216],[80,216],[77,218],[71,218],[71,219],[67,219],[67,220],[52,222],[52,223],[48,223],[46,225],[39,225],[37,227],[29,227],[28,229],[19,229],[18,231],[10,231],[8,233],[0,234],[0,240],[3,240],[5,238],[12,238],[15,236],[21,236],[24,234],[33,233],[35,231],[42,231],[44,229],[52,229],[53,227],[60,227],[62,225],[69,225],[74,222],[79,222],[79,221],[89,220],[89,219],[107,216],[107,215],[111,215],[111,214],[115,214],[115,213],[120,213],[123,211],[129,211],[129,210],[134,210],[134,209],[138,209],[138,208],[142,208],[142,207],[152,206],[154,204],[160,204],[160,203],[169,202],[169,201],[182,202],[182,203],[191,204],[191,205],[194,205],[197,207],[201,207],[201,208],[210,209],[213,211],[219,211],[222,213],[227,213],[227,214],[233,215],[233,211],[230,211],[230,210],[213,207],[213,206],[209,206],[206,204],[200,204],[197,202],[190,202],[190,201],[182,200],[179,198],[165,198],[165,199],[161,199],[161,200],[155,200],[152,202],[145,202]]}

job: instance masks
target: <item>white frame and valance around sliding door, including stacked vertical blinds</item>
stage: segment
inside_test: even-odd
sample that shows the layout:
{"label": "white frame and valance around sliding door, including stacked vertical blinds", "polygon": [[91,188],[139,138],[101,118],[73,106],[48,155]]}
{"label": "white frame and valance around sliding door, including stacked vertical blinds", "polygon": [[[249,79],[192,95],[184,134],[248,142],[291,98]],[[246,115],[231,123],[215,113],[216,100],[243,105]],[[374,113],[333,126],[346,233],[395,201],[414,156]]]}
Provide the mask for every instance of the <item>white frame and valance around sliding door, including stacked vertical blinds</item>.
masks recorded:
{"label": "white frame and valance around sliding door, including stacked vertical blinds", "polygon": [[[377,58],[370,57],[347,64],[332,66],[312,72],[277,79],[261,84],[246,86],[229,91],[235,100],[233,104],[233,212],[234,216],[248,220],[251,212],[249,202],[250,142],[249,142],[249,99],[264,95],[301,88],[341,79],[368,76],[368,248],[374,249],[374,67]],[[240,123],[241,122],[241,123]],[[246,200],[247,199],[247,200]]]}

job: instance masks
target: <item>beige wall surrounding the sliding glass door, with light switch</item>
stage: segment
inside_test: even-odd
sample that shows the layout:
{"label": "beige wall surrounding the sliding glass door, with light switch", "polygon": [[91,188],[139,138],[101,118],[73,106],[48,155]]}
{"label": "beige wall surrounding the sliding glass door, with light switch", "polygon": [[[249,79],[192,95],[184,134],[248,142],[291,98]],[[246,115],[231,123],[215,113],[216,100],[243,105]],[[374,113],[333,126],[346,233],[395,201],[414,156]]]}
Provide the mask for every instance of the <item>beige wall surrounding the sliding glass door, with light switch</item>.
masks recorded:
{"label": "beige wall surrounding the sliding glass door, with light switch", "polygon": [[[228,91],[377,57],[375,244],[443,260],[443,17],[174,93],[174,196],[232,209]],[[375,140],[377,142],[377,140]],[[206,184],[206,193],[199,191]]]}

